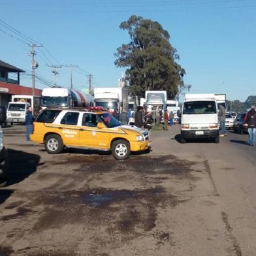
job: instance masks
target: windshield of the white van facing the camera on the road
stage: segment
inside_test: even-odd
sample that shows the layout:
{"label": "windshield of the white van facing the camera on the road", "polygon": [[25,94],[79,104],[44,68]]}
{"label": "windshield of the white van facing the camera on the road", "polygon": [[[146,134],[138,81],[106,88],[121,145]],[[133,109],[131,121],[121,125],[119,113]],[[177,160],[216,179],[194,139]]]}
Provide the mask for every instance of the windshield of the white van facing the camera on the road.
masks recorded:
{"label": "windshield of the white van facing the camera on the road", "polygon": [[188,101],[184,103],[183,114],[216,114],[215,101]]}

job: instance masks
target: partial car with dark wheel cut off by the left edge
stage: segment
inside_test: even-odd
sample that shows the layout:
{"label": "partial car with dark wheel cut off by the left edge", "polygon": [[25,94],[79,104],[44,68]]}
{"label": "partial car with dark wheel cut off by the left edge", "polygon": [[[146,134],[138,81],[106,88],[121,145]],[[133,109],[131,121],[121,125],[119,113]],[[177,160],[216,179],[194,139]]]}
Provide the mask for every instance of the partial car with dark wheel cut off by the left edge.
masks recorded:
{"label": "partial car with dark wheel cut off by the left edge", "polygon": [[3,142],[3,131],[0,128],[0,187],[7,184],[8,153]]}

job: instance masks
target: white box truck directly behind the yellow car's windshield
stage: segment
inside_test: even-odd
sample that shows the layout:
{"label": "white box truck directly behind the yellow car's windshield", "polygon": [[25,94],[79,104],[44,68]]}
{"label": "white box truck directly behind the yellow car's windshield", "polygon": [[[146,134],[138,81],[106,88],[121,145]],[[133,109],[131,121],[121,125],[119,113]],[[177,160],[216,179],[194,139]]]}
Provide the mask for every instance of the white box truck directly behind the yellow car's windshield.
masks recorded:
{"label": "white box truck directly behind the yellow car's windshield", "polygon": [[94,106],[102,106],[113,112],[118,109],[121,113],[123,108],[128,111],[128,89],[127,88],[95,88]]}

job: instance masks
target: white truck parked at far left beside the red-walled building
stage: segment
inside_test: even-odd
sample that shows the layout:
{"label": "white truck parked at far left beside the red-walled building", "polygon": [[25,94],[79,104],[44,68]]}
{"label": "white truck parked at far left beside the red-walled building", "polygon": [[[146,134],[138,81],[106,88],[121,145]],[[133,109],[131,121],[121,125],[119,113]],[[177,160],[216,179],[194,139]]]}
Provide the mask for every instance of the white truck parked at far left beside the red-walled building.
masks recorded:
{"label": "white truck parked at far left beside the red-walled building", "polygon": [[12,101],[8,103],[7,123],[25,123],[25,113],[32,106],[33,116],[39,114],[40,96],[12,95]]}

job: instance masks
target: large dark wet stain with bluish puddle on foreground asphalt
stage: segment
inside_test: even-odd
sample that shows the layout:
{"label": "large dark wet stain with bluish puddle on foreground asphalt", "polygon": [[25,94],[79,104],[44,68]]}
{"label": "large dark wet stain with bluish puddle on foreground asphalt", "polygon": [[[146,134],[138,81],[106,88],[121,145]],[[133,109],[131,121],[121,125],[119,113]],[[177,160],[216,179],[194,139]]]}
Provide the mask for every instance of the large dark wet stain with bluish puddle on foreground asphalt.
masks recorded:
{"label": "large dark wet stain with bluish puddle on foreground asphalt", "polygon": [[[34,231],[56,229],[67,223],[106,225],[122,233],[151,231],[157,220],[157,208],[175,207],[185,202],[167,193],[163,187],[144,190],[97,188],[84,191],[47,191],[33,200],[45,205]],[[53,218],[52,216],[57,216]]]}

